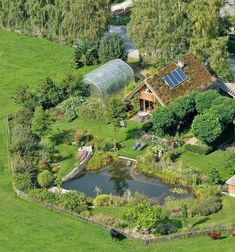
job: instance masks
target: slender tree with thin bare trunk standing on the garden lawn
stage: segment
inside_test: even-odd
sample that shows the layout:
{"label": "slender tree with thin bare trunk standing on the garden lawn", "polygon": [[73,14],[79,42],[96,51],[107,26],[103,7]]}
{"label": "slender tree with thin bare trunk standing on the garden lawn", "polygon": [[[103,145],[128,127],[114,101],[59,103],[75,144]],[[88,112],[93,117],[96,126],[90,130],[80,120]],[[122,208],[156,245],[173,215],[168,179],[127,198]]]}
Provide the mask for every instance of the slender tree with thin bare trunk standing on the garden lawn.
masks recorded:
{"label": "slender tree with thin bare trunk standing on the garden lawn", "polygon": [[111,96],[106,102],[107,117],[114,129],[114,148],[117,150],[117,132],[120,121],[126,118],[125,103],[119,96]]}

